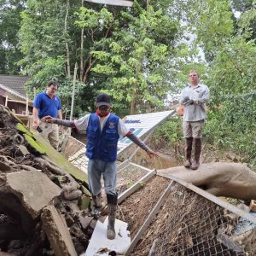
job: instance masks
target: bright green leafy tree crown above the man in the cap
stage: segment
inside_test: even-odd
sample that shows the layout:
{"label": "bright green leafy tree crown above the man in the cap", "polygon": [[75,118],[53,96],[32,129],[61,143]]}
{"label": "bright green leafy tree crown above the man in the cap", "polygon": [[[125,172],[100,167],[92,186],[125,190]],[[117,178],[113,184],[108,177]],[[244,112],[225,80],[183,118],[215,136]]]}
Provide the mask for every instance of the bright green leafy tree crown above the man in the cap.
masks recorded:
{"label": "bright green leafy tree crown above the man in the cap", "polygon": [[[113,35],[99,41],[102,50],[92,50],[97,64],[92,71],[105,77],[105,91],[117,102],[130,105],[135,113],[141,105],[162,104],[168,89],[164,73],[166,58],[176,37],[177,24],[159,9],[142,9],[135,1],[137,16],[122,11],[119,19],[107,9],[80,9],[77,24],[91,30],[112,27]],[[96,17],[96,18],[95,18]],[[119,26],[126,22],[126,26]]]}

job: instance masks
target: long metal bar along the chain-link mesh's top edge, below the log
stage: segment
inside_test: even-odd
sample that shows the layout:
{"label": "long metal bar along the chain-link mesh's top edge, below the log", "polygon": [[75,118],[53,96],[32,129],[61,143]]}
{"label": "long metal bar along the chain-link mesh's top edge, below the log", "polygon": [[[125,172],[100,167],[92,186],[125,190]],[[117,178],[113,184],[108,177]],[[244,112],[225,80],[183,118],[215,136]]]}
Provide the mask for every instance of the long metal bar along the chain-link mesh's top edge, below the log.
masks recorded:
{"label": "long metal bar along the chain-link mesh's top edge, below the log", "polygon": [[190,189],[192,191],[194,191],[196,194],[199,194],[201,196],[203,196],[204,198],[207,198],[207,200],[212,201],[214,203],[216,203],[218,206],[220,207],[224,207],[225,209],[229,210],[230,212],[234,212],[237,215],[239,215],[242,218],[246,218],[247,220],[253,222],[254,224],[256,224],[256,217],[254,217],[252,214],[248,213],[248,212],[244,212],[241,209],[231,205],[228,202],[219,200],[217,196],[212,195],[210,193],[208,193],[207,191],[203,190],[203,189],[199,189],[198,187],[196,187],[195,185],[191,184],[191,183],[187,183],[177,177],[174,177],[172,175],[167,175],[164,173],[158,173],[157,175],[161,176],[161,177],[167,177],[171,180],[174,180],[175,182],[183,185],[184,187],[186,187],[187,189]]}

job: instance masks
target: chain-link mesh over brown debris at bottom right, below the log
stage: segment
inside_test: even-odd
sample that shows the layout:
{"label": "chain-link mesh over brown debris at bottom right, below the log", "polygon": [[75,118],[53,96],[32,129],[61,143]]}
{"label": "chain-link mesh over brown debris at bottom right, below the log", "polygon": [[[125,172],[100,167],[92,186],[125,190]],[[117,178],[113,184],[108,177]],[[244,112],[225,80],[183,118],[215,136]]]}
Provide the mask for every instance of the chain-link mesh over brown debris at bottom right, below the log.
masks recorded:
{"label": "chain-link mesh over brown debris at bottom right, below the log", "polygon": [[166,213],[154,237],[154,256],[256,255],[255,223],[178,183],[161,211]]}

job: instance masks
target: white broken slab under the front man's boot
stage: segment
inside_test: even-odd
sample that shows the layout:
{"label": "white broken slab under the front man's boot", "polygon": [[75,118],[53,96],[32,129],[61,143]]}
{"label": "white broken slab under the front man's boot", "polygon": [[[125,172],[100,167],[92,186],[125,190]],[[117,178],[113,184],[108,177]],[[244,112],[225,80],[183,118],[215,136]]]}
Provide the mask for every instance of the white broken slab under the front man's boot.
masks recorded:
{"label": "white broken slab under the front man's boot", "polygon": [[115,239],[108,240],[108,218],[106,218],[103,224],[97,221],[96,228],[90,238],[89,246],[81,256],[108,256],[108,253],[111,251],[116,252],[117,255],[124,254],[131,244],[130,231],[127,230],[127,227],[127,223],[116,219]]}

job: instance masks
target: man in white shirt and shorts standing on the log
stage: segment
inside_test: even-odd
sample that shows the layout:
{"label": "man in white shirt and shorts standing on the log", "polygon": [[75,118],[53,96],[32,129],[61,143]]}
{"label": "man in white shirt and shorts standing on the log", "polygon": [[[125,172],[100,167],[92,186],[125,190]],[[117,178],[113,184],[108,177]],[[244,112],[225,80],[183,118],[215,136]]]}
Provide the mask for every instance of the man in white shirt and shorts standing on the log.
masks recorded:
{"label": "man in white shirt and shorts standing on the log", "polygon": [[[210,92],[207,85],[199,83],[199,74],[196,70],[189,72],[189,82],[190,84],[183,89],[180,96],[180,103],[184,105],[183,134],[186,140],[184,166],[196,170],[200,166],[201,135]],[[191,163],[193,138],[195,139],[195,155]]]}

